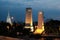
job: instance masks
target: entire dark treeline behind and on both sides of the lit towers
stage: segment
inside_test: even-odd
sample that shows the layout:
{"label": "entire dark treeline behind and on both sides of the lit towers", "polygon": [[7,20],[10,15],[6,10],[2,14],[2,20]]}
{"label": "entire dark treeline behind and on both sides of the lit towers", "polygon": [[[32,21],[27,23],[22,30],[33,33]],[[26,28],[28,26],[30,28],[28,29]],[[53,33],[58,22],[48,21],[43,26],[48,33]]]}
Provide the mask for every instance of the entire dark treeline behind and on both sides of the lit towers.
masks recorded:
{"label": "entire dark treeline behind and on both sides of the lit towers", "polygon": [[[37,26],[38,22],[33,22],[33,27]],[[0,21],[0,35],[17,37],[24,35],[31,35],[30,29],[24,29],[25,23],[13,22],[11,26],[9,23]],[[44,23],[46,34],[60,35],[60,21],[50,19]]]}

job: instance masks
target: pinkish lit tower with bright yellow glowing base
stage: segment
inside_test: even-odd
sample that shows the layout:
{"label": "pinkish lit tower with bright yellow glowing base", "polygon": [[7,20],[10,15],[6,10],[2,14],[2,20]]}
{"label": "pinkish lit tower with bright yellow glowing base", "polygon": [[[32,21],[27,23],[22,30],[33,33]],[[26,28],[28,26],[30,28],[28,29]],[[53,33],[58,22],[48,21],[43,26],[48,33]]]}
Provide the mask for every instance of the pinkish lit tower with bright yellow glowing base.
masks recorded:
{"label": "pinkish lit tower with bright yellow glowing base", "polygon": [[40,11],[38,13],[38,26],[34,34],[41,34],[43,31],[44,31],[44,19],[43,19],[43,13],[42,11]]}

